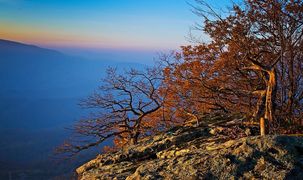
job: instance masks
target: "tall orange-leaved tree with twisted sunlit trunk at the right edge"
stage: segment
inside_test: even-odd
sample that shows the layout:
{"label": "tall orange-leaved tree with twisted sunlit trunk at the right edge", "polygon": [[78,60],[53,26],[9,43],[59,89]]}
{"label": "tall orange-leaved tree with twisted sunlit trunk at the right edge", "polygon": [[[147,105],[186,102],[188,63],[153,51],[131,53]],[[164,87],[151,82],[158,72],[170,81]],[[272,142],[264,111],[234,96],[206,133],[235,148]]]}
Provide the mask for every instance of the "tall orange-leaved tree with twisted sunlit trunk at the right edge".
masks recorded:
{"label": "tall orange-leaved tree with twisted sunlit trunk at the right edge", "polygon": [[[184,71],[178,72],[187,61],[184,58],[184,62],[173,67],[173,71],[178,72],[174,79],[181,77],[194,84],[197,83],[195,81],[200,81],[201,87],[210,91],[208,99],[212,99],[211,105],[220,107],[218,105],[224,101],[230,102],[221,109],[223,107],[228,109],[231,104],[249,96],[255,97],[248,103],[254,104],[258,101],[258,106],[255,105],[255,115],[265,118],[265,127],[269,125],[272,128],[277,127],[285,121],[283,115],[285,117],[294,114],[301,118],[302,2],[248,0],[240,3],[231,2],[226,9],[211,6],[201,0],[196,2],[202,8],[192,6],[192,11],[203,18],[204,24],[196,23],[191,29],[202,30],[210,36],[211,41],[203,42],[190,32],[189,40],[200,44],[191,52],[202,52],[198,55],[197,61],[201,61],[206,68],[212,67],[217,70],[212,74],[207,72],[208,77],[207,73],[202,72],[198,78],[193,79]],[[203,50],[200,51],[199,48]],[[188,56],[184,53],[184,48],[183,55]],[[191,63],[196,62],[191,60]],[[205,80],[205,76],[208,79]],[[220,78],[224,79],[221,86],[205,85],[214,80],[219,81]],[[241,84],[244,86],[239,89]],[[214,92],[217,92],[217,97],[223,97],[222,101],[215,101]],[[234,97],[228,98],[223,92],[229,92]],[[204,99],[206,97],[203,96]],[[279,116],[275,113],[277,109]],[[294,115],[291,117],[295,117]],[[264,132],[268,134],[268,131]]]}

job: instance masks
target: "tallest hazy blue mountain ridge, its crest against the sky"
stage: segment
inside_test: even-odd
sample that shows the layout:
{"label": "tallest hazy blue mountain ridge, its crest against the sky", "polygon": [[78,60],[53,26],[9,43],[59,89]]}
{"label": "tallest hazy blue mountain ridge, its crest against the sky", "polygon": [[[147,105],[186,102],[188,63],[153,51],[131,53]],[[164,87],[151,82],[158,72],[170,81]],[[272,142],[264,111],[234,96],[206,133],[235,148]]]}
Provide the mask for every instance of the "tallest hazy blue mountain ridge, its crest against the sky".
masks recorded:
{"label": "tallest hazy blue mountain ridge, its crest against the sky", "polygon": [[144,67],[139,63],[87,60],[55,50],[0,39],[2,97],[82,96],[84,92],[91,92],[100,85],[100,78],[105,77],[108,66],[118,66],[119,72],[123,68]]}

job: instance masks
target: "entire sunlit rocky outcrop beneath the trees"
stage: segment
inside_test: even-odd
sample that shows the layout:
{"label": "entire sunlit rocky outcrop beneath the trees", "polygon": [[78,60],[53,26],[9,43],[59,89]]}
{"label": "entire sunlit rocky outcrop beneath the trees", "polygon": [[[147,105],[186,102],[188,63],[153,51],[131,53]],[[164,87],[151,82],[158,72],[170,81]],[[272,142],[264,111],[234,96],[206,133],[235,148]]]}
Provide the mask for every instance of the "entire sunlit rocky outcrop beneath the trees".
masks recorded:
{"label": "entire sunlit rocky outcrop beneath the trees", "polygon": [[[225,128],[234,127],[241,138],[226,134]],[[302,137],[254,133],[241,118],[210,115],[199,127],[176,126],[123,153],[99,156],[77,172],[83,180],[303,179]]]}

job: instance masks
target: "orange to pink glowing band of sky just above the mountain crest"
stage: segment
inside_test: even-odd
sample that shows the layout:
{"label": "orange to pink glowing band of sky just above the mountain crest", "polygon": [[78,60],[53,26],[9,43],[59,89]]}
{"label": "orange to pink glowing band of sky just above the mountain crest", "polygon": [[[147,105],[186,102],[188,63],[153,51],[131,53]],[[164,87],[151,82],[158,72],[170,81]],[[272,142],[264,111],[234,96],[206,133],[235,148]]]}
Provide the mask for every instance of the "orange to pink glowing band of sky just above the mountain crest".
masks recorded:
{"label": "orange to pink glowing band of sky just above the mountain crest", "polygon": [[[171,44],[166,46],[150,46],[148,42],[128,42],[127,39],[120,39],[120,42],[114,39],[105,39],[100,36],[89,37],[87,35],[64,34],[60,32],[46,32],[43,30],[32,30],[29,28],[16,28],[1,26],[0,39],[15,41],[35,46],[54,46],[54,47],[72,47],[84,49],[138,49],[138,50],[161,50],[173,47]],[[123,43],[123,44],[122,44]],[[157,45],[157,44],[156,44]]]}

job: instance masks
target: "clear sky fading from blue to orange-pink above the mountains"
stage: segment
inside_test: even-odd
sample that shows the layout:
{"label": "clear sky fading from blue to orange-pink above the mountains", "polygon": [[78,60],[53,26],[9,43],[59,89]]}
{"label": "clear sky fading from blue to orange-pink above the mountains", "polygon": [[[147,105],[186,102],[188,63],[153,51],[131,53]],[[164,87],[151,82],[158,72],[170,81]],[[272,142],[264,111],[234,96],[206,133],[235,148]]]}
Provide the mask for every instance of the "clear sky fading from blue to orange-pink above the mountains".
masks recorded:
{"label": "clear sky fading from blue to orange-pink above the mountains", "polygon": [[92,52],[175,50],[190,44],[189,26],[201,22],[187,2],[0,0],[0,39]]}

